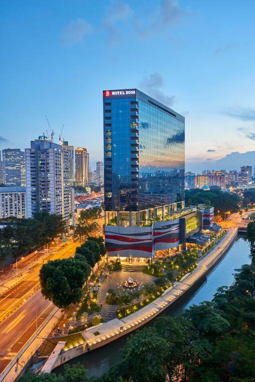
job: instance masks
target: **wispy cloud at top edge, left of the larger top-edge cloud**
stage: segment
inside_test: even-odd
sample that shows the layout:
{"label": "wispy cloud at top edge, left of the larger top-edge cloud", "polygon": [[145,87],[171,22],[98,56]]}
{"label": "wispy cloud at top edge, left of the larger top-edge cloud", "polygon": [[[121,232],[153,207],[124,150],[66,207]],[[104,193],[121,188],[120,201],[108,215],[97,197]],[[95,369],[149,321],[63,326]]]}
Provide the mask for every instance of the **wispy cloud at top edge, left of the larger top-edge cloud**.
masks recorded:
{"label": "wispy cloud at top edge, left of the larger top-edge cloud", "polygon": [[133,14],[133,10],[129,4],[121,0],[112,0],[110,5],[107,6],[105,17],[103,19],[103,27],[107,32],[107,39],[109,42],[114,42],[118,38],[118,31],[116,24],[119,21],[125,21]]}

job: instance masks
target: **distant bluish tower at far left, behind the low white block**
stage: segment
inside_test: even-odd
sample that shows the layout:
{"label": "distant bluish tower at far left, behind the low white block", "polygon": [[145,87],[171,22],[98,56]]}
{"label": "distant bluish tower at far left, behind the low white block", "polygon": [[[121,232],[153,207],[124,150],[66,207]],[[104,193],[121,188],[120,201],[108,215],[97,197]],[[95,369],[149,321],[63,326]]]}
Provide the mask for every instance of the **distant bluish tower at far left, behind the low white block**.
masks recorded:
{"label": "distant bluish tower at far left, behind the low white block", "polygon": [[24,152],[20,149],[2,150],[2,172],[6,186],[24,186]]}

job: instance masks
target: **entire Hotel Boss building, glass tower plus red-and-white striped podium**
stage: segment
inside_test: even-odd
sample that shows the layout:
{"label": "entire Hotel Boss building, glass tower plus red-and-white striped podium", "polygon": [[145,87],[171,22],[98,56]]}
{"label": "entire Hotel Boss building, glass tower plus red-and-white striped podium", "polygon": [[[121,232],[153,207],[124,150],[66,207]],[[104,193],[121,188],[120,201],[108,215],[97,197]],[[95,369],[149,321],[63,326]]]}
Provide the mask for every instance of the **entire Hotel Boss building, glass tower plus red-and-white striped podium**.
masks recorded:
{"label": "entire Hotel Boss building, glass tower plus red-and-white striped podium", "polygon": [[184,248],[213,219],[184,207],[184,117],[137,89],[104,91],[103,110],[107,255]]}

